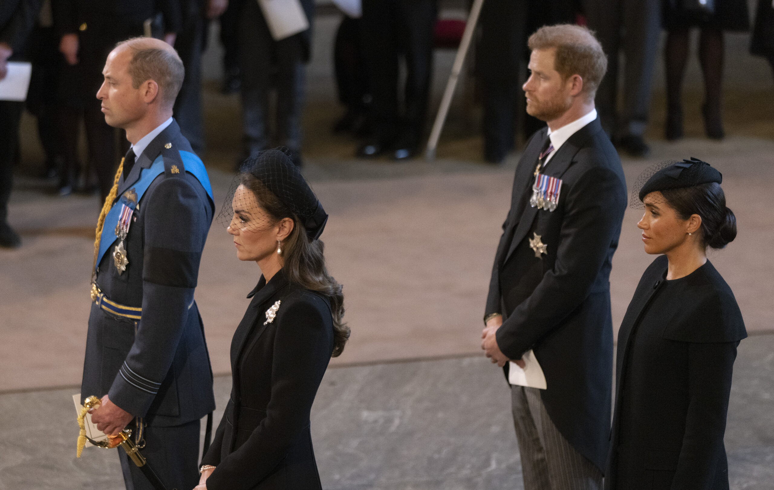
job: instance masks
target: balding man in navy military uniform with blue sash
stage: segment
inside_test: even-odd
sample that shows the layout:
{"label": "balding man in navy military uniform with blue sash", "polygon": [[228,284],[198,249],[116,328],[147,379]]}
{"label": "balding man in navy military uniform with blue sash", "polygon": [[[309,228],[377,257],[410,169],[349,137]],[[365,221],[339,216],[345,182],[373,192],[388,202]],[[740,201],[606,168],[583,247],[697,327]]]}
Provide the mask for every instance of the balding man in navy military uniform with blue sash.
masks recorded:
{"label": "balding man in navy military uniform with blue sash", "polygon": [[[105,121],[125,129],[132,147],[98,224],[81,399],[102,397],[92,421],[108,434],[132,429],[167,488],[194,488],[200,419],[215,406],[194,302],[212,190],[172,118],[183,82],[175,50],[130,39],[103,74]],[[152,488],[119,454],[126,487]]]}

